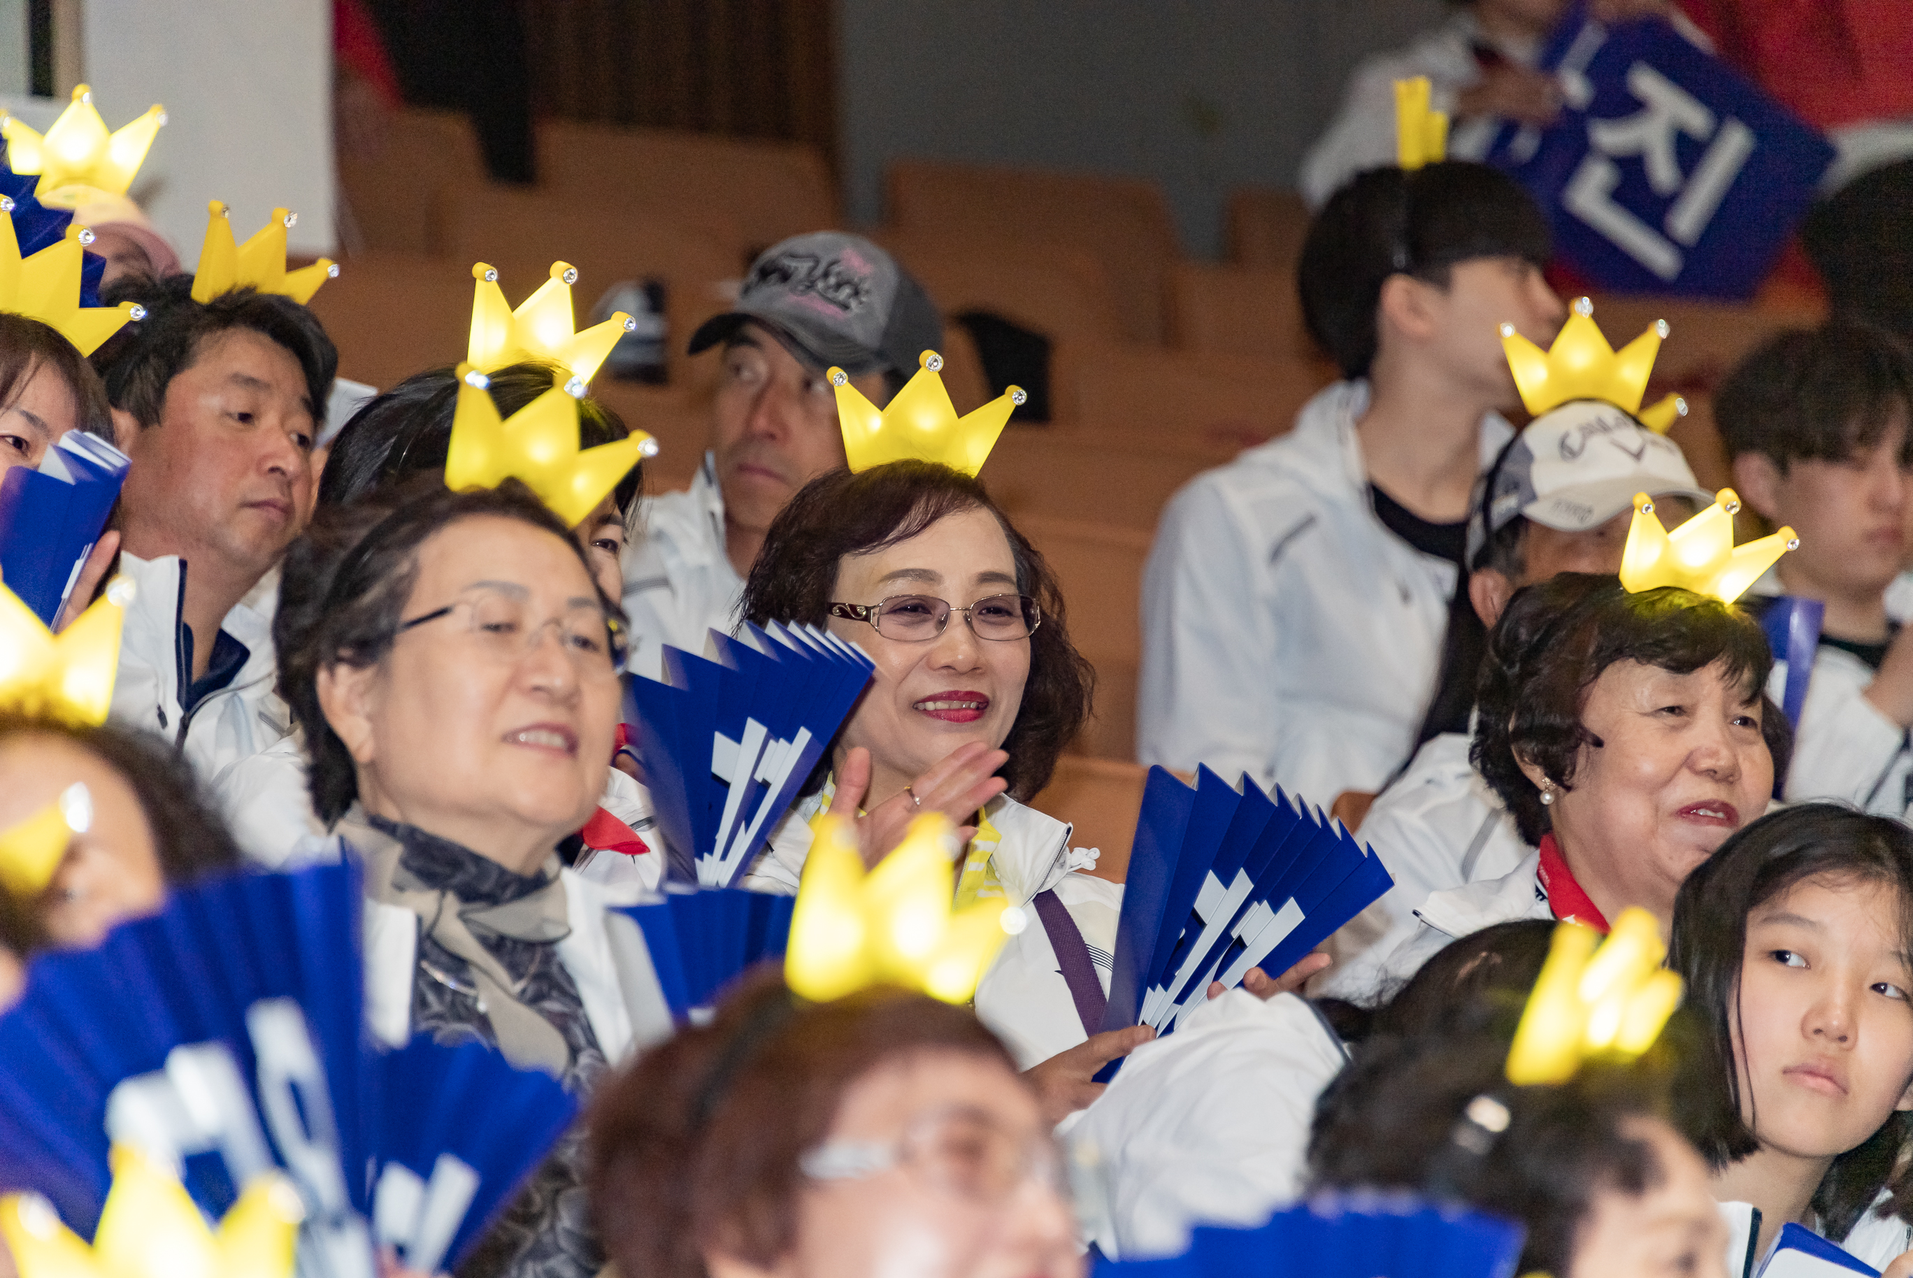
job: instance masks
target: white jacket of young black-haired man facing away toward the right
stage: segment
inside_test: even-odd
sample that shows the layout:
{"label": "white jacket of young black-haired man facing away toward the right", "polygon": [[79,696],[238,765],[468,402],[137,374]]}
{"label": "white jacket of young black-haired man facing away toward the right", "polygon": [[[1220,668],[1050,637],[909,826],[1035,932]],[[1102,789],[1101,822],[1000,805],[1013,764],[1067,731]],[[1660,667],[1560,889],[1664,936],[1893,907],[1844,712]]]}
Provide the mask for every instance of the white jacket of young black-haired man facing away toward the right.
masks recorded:
{"label": "white jacket of young black-haired man facing away toward the right", "polygon": [[[1379,790],[1416,744],[1456,568],[1375,517],[1337,383],[1289,434],[1198,474],[1163,511],[1142,582],[1138,754],[1207,763],[1322,804]],[[1481,423],[1481,465],[1513,432]]]}

